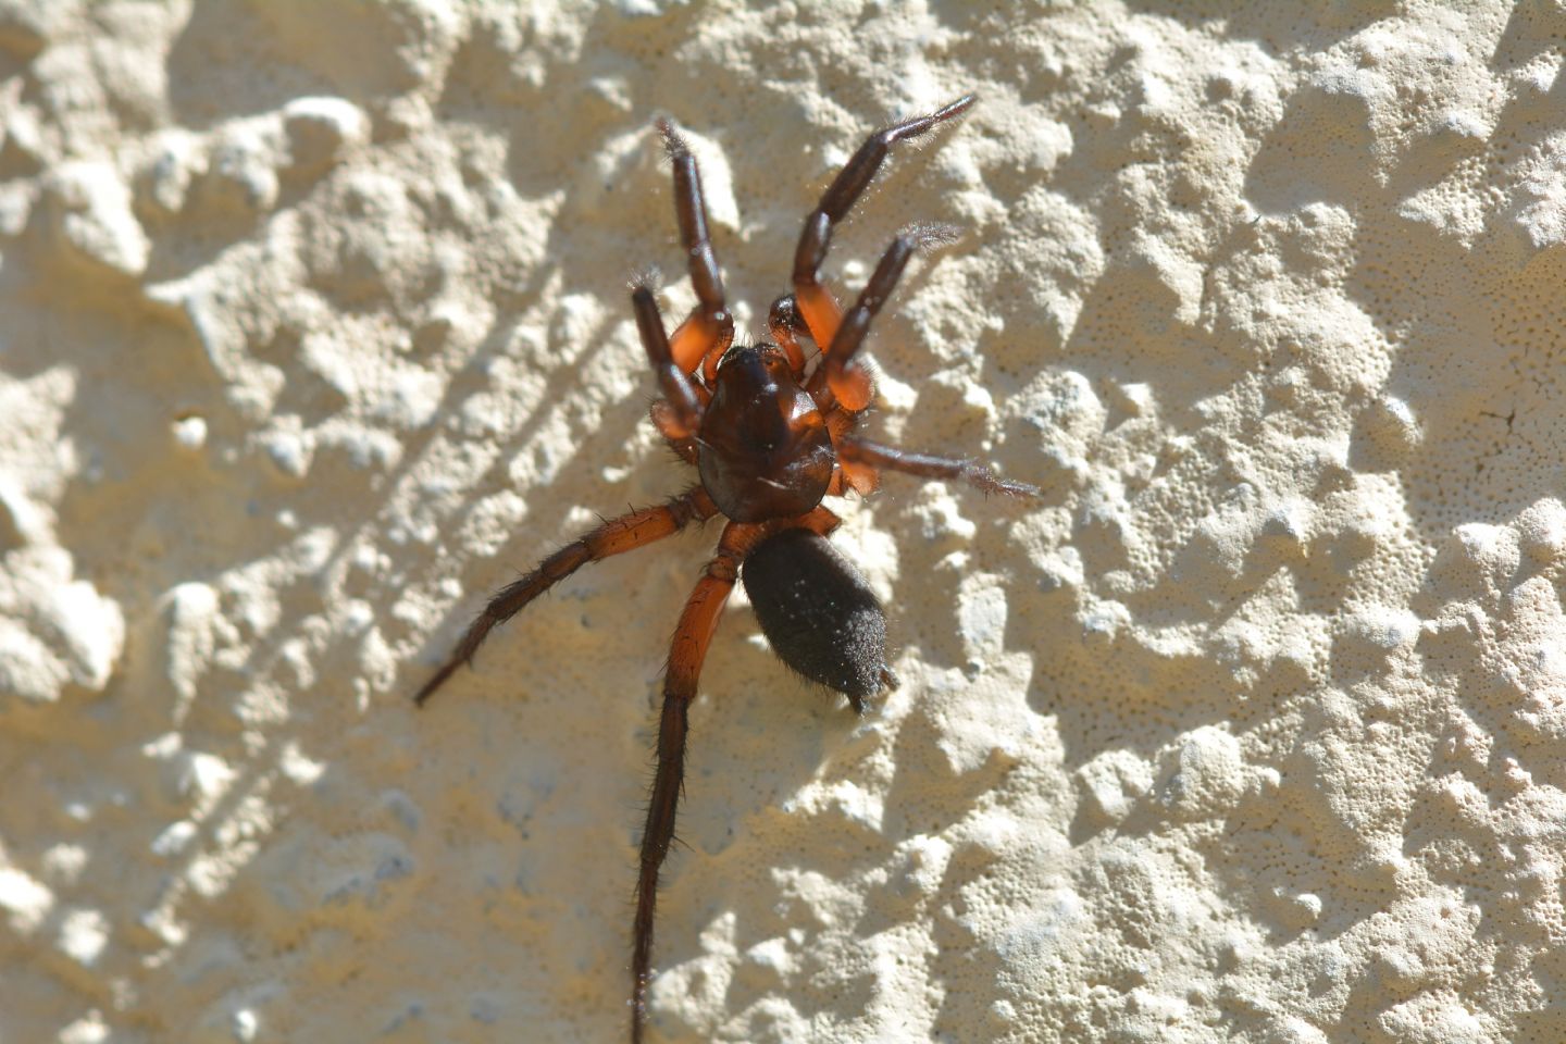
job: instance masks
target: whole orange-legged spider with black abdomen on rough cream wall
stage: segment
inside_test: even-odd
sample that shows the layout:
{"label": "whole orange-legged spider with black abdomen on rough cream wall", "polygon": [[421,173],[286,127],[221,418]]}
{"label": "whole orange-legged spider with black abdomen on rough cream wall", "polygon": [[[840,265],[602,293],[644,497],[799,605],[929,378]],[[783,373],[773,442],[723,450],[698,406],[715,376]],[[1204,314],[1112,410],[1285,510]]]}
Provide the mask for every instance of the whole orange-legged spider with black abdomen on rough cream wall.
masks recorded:
{"label": "whole orange-legged spider with black abdomen on rough cream wall", "polygon": [[[692,521],[728,518],[717,554],[680,614],[664,673],[658,767],[631,922],[633,1044],[645,1030],[658,872],[675,831],[691,701],[734,581],[744,581],[761,631],[783,664],[841,692],[863,714],[868,698],[896,684],[886,665],[886,615],[858,570],[827,543],[839,520],[822,498],[850,490],[871,493],[882,468],[962,479],[987,493],[1038,495],[1035,487],[996,477],[969,460],[905,452],[853,434],[872,396],[869,371],[853,362],[871,319],[913,252],[951,241],[951,229],[915,225],[902,232],[847,313],[821,282],[833,225],[864,193],[891,147],[960,116],[972,103],[974,95],[960,97],[927,116],[879,130],[860,146],[805,219],[794,252],[794,293],[772,302],[772,340],[760,344],[734,343],[695,158],[673,124],[658,121],[673,166],[675,216],[697,305],[669,337],[650,279],[642,277],[631,286],[631,308],[662,393],[653,402],[651,421],[675,454],[697,468],[700,481],[662,506],[604,521],[501,589],[415,697],[418,704],[429,700],[457,667],[473,661],[496,625],[583,565],[647,546]],[[819,354],[806,358],[800,338]]]}

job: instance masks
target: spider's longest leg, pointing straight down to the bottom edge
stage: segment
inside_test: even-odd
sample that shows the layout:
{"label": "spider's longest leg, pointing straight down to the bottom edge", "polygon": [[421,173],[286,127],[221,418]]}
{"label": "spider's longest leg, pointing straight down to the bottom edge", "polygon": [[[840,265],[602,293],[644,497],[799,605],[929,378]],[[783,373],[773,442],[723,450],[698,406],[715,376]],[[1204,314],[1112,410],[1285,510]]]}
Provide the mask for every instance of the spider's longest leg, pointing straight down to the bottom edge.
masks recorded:
{"label": "spider's longest leg, pointing straight down to the bottom edge", "polygon": [[717,617],[734,589],[739,565],[763,527],[728,523],[717,543],[717,554],[706,563],[697,581],[669,650],[664,673],[664,709],[658,723],[658,769],[647,803],[647,826],[642,830],[640,872],[636,877],[636,917],[631,922],[631,1041],[642,1039],[647,1019],[647,983],[653,963],[653,913],[658,903],[658,870],[669,855],[675,836],[675,809],[684,779],[684,748],[687,711],[695,698],[697,679],[706,648],[717,629]]}

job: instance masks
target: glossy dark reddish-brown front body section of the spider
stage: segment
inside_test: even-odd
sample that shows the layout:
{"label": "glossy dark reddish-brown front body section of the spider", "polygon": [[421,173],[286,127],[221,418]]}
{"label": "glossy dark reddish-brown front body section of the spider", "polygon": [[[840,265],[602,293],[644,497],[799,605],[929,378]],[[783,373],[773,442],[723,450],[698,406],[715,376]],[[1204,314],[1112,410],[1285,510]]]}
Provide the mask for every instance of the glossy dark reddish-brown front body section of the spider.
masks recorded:
{"label": "glossy dark reddish-brown front body section of the spider", "polygon": [[697,468],[717,510],[739,523],[803,515],[827,495],[827,421],[772,344],[733,347],[702,413]]}

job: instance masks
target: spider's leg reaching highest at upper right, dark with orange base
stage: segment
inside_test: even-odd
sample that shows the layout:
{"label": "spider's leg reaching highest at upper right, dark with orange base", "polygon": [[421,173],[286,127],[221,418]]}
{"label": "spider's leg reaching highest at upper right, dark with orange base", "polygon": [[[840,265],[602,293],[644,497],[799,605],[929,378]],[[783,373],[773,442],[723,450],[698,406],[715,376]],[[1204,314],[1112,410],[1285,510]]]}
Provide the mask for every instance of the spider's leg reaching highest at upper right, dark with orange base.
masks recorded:
{"label": "spider's leg reaching highest at upper right, dark with orange base", "polygon": [[805,322],[810,324],[816,344],[825,346],[832,343],[838,333],[838,321],[841,318],[838,304],[832,299],[827,288],[821,285],[821,265],[827,260],[827,249],[832,246],[832,227],[843,221],[849,210],[853,208],[853,202],[864,193],[894,144],[918,138],[936,124],[960,116],[968,111],[974,100],[972,94],[965,94],[929,116],[916,116],[875,131],[843,164],[838,177],[822,193],[816,210],[805,219],[805,230],[800,233],[799,247],[794,250],[794,296],[799,301]]}

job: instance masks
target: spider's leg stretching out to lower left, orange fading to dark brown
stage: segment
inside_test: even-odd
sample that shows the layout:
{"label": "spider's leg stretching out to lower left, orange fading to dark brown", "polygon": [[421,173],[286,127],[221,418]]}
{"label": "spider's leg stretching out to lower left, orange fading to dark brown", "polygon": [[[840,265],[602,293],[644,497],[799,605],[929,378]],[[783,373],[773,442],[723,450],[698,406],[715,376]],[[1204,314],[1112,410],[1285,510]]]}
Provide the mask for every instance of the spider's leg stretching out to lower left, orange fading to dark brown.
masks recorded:
{"label": "spider's leg stretching out to lower left, orange fading to dark brown", "polygon": [[451,656],[446,657],[446,662],[440,665],[440,670],[413,697],[413,703],[423,704],[462,664],[471,664],[473,654],[484,643],[484,639],[489,637],[490,631],[515,617],[528,603],[581,567],[598,559],[606,559],[611,554],[625,554],[626,551],[647,546],[655,540],[684,529],[691,521],[706,521],[716,513],[717,506],[713,502],[713,498],[705,490],[694,488],[670,499],[667,504],[644,507],[628,515],[611,518],[592,532],[565,545],[543,559],[531,573],[512,581],[495,593],[484,607],[484,612],[468,625],[467,632],[457,642],[457,648],[453,650]]}

